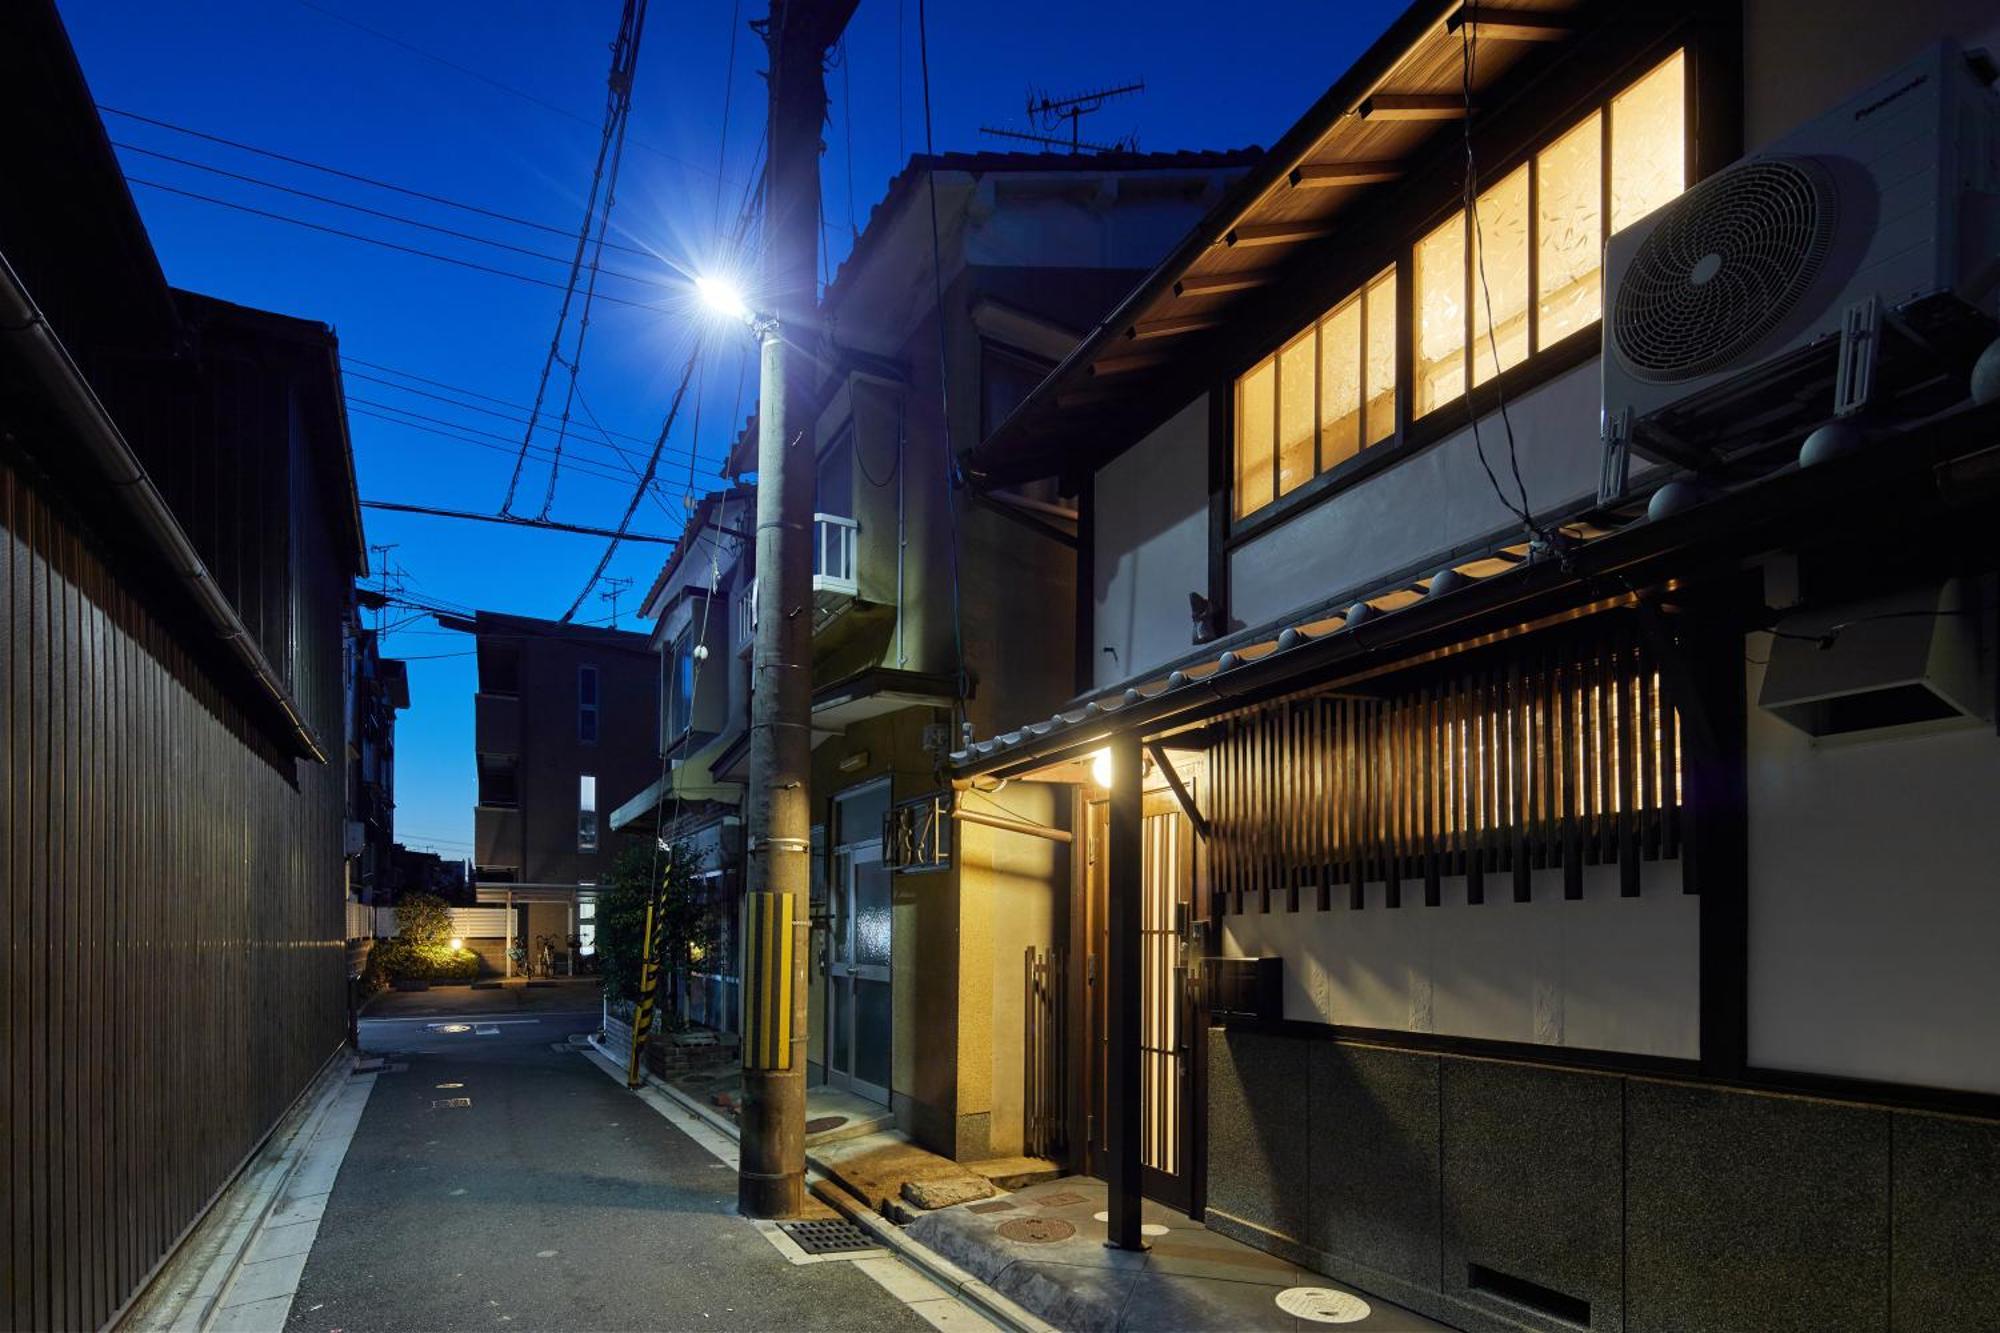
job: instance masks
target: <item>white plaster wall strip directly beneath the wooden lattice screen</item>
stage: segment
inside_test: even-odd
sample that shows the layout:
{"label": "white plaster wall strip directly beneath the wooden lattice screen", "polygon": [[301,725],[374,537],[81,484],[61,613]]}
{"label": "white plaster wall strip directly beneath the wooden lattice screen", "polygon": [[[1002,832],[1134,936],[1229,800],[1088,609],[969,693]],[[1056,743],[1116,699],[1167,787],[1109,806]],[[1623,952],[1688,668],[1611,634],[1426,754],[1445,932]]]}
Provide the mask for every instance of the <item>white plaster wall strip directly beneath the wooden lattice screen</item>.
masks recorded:
{"label": "white plaster wall strip directly beneath the wooden lattice screen", "polygon": [[1370,885],[1362,911],[1340,889],[1324,913],[1226,915],[1222,939],[1284,959],[1286,1019],[1694,1059],[1700,899],[1680,891],[1678,861],[1646,863],[1640,889],[1622,899],[1618,869],[1590,867],[1572,903],[1562,871],[1538,871],[1532,903],[1488,875],[1478,907],[1446,879],[1444,905],[1404,883],[1388,909]]}

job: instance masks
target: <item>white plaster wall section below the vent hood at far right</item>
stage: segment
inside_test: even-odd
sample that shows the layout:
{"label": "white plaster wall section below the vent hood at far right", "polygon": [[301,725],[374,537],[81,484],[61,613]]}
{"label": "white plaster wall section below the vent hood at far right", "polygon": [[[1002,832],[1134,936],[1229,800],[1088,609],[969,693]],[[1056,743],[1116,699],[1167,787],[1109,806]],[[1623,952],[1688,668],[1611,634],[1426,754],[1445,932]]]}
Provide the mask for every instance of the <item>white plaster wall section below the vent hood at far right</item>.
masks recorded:
{"label": "white plaster wall section below the vent hood at far right", "polygon": [[2000,739],[1816,745],[1746,673],[1750,1063],[2000,1093]]}

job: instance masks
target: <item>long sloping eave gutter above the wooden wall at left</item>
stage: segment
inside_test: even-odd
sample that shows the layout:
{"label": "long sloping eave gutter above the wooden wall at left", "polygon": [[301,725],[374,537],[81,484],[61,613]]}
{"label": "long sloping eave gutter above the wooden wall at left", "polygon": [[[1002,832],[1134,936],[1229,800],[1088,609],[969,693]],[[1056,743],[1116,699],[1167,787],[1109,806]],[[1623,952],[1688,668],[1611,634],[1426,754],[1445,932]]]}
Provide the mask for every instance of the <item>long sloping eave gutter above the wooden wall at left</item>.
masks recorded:
{"label": "long sloping eave gutter above the wooden wall at left", "polygon": [[144,464],[132,452],[124,432],[118,430],[118,422],[104,410],[104,402],[98,400],[96,390],[90,388],[82,370],[76,368],[68,348],[62,346],[56,330],[48,324],[40,306],[34,304],[34,296],[28,294],[20,274],[6,262],[6,256],[0,256],[0,332],[26,352],[34,378],[56,398],[56,404],[76,426],[76,438],[84,446],[84,454],[104,474],[110,488],[118,492],[140,530],[166,552],[174,574],[186,584],[216,634],[244,669],[250,671],[258,687],[270,697],[270,703],[278,705],[278,711],[284,713],[306,757],[324,765],[326,751],[320,749],[320,739],[306,725],[306,719],[298,715],[292,693],[278,679],[278,673],[272,671],[264,650],[258,648],[256,638],[250,636],[250,630],[236,614],[236,608],[230,606],[222,588],[216,586],[214,576],[194,550],[180,520],[174,518],[174,510],[160,498],[152,478],[146,476]]}

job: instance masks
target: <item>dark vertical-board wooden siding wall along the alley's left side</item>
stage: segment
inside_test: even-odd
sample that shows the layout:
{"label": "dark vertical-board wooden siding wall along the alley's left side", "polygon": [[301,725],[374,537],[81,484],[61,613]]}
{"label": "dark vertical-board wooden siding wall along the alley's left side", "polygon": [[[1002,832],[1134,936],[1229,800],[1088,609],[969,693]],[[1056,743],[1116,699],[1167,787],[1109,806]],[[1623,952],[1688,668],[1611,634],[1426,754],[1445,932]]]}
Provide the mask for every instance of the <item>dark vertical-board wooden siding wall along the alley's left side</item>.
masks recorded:
{"label": "dark vertical-board wooden siding wall along the alley's left side", "polygon": [[[342,771],[4,454],[0,526],[0,1323],[90,1329],[344,1037]],[[294,693],[338,743],[344,578],[294,540]]]}

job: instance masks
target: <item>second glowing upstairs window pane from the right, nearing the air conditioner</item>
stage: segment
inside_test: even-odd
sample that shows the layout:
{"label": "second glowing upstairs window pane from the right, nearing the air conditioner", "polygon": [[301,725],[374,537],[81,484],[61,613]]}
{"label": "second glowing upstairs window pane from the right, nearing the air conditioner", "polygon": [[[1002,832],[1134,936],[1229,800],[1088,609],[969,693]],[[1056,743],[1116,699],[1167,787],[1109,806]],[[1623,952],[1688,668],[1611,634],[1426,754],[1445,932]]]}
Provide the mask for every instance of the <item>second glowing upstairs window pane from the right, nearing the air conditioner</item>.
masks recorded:
{"label": "second glowing upstairs window pane from the right, nearing the air conditioner", "polygon": [[1536,342],[1548,346],[1596,322],[1604,266],[1604,116],[1534,160]]}

